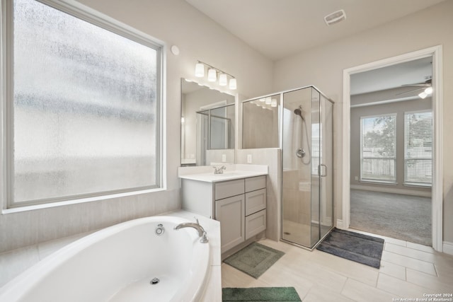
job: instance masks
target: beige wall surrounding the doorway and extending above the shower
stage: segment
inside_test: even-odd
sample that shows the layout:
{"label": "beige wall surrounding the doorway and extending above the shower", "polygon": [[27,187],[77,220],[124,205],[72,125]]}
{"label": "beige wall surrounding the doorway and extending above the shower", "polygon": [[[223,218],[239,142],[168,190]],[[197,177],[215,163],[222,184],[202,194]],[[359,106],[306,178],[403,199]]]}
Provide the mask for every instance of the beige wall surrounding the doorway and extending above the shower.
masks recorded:
{"label": "beige wall surrounding the doorway and extending above the shower", "polygon": [[[453,242],[453,1],[444,1],[418,13],[358,35],[306,50],[293,57],[275,62],[274,91],[312,84],[336,102],[335,137],[335,201],[336,219],[342,218],[342,107],[343,69],[379,59],[394,57],[435,45],[443,46],[443,128],[445,154],[444,240]],[[303,72],[301,72],[303,71]],[[344,126],[345,127],[345,126]]]}

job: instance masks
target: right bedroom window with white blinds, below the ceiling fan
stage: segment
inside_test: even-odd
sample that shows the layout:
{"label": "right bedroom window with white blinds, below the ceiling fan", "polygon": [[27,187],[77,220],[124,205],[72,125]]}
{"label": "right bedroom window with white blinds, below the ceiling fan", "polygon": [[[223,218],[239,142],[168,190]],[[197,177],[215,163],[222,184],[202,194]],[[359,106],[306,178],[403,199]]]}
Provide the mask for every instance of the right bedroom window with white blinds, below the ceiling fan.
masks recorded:
{"label": "right bedroom window with white blinds, below the ceiling fan", "polygon": [[432,111],[404,114],[404,183],[431,186]]}

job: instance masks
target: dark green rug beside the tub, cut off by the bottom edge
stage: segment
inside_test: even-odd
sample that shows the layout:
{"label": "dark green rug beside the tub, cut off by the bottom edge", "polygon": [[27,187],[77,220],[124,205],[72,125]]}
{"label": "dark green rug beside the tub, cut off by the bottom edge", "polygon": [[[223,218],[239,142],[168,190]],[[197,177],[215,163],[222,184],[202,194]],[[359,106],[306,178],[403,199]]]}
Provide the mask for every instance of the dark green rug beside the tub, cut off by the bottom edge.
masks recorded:
{"label": "dark green rug beside the tub, cut off by the bottom edge", "polygon": [[222,289],[223,302],[301,302],[294,287],[251,287],[238,289],[227,287]]}

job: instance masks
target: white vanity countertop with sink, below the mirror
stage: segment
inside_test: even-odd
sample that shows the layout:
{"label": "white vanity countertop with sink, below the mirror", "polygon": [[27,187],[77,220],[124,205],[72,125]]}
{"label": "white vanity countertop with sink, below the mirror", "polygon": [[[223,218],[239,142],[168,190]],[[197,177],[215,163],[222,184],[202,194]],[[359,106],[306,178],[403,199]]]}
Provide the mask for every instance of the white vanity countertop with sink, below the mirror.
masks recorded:
{"label": "white vanity countertop with sink, below the mirror", "polygon": [[254,176],[268,175],[267,165],[225,164],[226,170],[222,174],[214,174],[213,167],[222,165],[202,165],[197,167],[178,168],[178,177],[202,182],[222,182]]}

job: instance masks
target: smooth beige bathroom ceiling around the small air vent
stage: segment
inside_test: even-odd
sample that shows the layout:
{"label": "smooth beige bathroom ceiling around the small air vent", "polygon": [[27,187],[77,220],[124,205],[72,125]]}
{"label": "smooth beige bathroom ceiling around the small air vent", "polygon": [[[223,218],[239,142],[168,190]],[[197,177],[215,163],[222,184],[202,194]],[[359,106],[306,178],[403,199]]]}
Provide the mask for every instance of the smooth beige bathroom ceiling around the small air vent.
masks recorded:
{"label": "smooth beige bathroom ceiling around the small air vent", "polygon": [[[396,20],[444,0],[185,0],[272,60]],[[331,26],[324,16],[343,9]]]}

